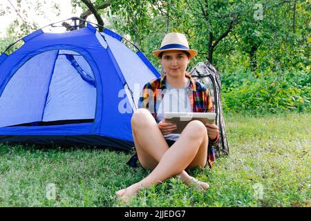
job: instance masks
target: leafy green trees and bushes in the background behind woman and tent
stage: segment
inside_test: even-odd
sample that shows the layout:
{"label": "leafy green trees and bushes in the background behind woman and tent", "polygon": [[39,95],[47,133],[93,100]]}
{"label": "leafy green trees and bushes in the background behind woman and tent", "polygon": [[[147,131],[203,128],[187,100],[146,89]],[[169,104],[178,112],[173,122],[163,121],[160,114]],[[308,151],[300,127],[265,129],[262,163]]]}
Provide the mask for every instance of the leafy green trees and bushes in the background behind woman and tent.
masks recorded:
{"label": "leafy green trees and bushes in the background behind woman and tent", "polygon": [[[73,6],[87,10],[82,1],[71,2]],[[152,51],[159,48],[165,33],[174,29],[185,33],[190,48],[198,50],[189,69],[211,56],[223,76],[225,111],[276,113],[310,109],[309,1],[91,2],[95,8],[110,3],[109,8],[99,10],[106,21],[105,26],[132,41],[159,71],[160,63]],[[37,13],[43,13],[39,0],[35,3],[22,1],[22,4],[37,7]],[[27,12],[22,12],[20,6],[19,12],[27,17]],[[0,16],[10,12],[13,12],[12,8],[0,8]],[[59,12],[56,6],[55,12]],[[230,23],[232,29],[220,39]],[[9,29],[8,38],[1,40],[1,49],[36,28],[36,23],[23,23],[17,19]],[[10,52],[20,45],[11,48]]]}

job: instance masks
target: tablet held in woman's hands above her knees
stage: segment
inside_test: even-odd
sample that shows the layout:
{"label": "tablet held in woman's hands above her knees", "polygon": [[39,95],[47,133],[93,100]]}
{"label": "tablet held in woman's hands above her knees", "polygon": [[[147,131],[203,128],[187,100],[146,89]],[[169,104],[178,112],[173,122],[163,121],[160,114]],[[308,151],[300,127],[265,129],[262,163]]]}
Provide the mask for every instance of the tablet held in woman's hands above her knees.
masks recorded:
{"label": "tablet held in woman's hands above her knees", "polygon": [[216,113],[165,112],[164,119],[165,122],[177,125],[177,129],[172,133],[182,133],[192,120],[199,120],[203,124],[212,124],[216,120]]}

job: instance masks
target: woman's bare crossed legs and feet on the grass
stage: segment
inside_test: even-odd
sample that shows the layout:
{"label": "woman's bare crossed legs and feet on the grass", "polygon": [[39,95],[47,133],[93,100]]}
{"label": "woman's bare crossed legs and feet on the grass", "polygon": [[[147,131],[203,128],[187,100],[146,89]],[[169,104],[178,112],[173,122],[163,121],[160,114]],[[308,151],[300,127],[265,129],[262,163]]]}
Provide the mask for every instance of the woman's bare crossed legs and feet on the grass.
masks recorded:
{"label": "woman's bare crossed legs and feet on the grass", "polygon": [[[144,168],[154,170],[148,177],[137,184],[133,184],[126,191],[125,189],[117,191],[117,195],[132,195],[142,187],[157,184],[173,175],[180,175],[180,179],[187,184],[192,181],[198,182],[194,177],[188,175],[184,169],[194,166],[204,167],[206,164],[208,138],[204,124],[196,121],[189,123],[171,148],[167,146],[149,111],[140,109],[135,112],[132,118],[132,128],[140,163]],[[150,136],[151,134],[152,136]],[[164,158],[162,159],[162,157]],[[180,162],[178,159],[184,160]],[[160,162],[159,165],[158,162]],[[199,184],[204,189],[209,187],[205,182]]]}

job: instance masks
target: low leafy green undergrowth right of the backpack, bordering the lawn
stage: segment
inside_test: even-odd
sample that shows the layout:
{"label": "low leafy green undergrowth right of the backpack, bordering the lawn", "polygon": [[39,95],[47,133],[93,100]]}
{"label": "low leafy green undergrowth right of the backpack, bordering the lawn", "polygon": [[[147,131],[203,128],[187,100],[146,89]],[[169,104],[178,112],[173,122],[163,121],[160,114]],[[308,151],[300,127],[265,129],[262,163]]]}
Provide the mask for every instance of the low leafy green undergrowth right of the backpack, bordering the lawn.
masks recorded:
{"label": "low leafy green undergrowth right of the backpack, bordering the lawn", "polygon": [[223,75],[223,109],[258,114],[310,111],[310,81],[310,75],[299,70],[266,70],[259,77],[249,71]]}

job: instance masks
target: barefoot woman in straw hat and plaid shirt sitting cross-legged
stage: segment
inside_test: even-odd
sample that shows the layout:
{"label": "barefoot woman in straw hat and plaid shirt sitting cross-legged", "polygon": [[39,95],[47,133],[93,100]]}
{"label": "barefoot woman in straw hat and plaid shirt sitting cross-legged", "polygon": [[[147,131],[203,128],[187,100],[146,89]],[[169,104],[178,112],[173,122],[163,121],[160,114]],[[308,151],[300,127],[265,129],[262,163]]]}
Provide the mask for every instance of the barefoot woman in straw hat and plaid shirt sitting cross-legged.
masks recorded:
{"label": "barefoot woman in straw hat and plaid shirt sitting cross-legged", "polygon": [[[138,183],[115,194],[126,200],[140,189],[159,184],[179,175],[186,184],[208,189],[209,184],[191,177],[185,169],[207,164],[207,148],[219,140],[218,126],[189,122],[181,134],[173,133],[176,125],[164,121],[164,112],[212,112],[209,90],[187,73],[196,50],[189,49],[185,35],[169,33],[162,40],[159,57],[165,74],[144,86],[140,109],[133,113],[131,126],[138,159],[151,173]],[[177,102],[176,102],[177,101]]]}

